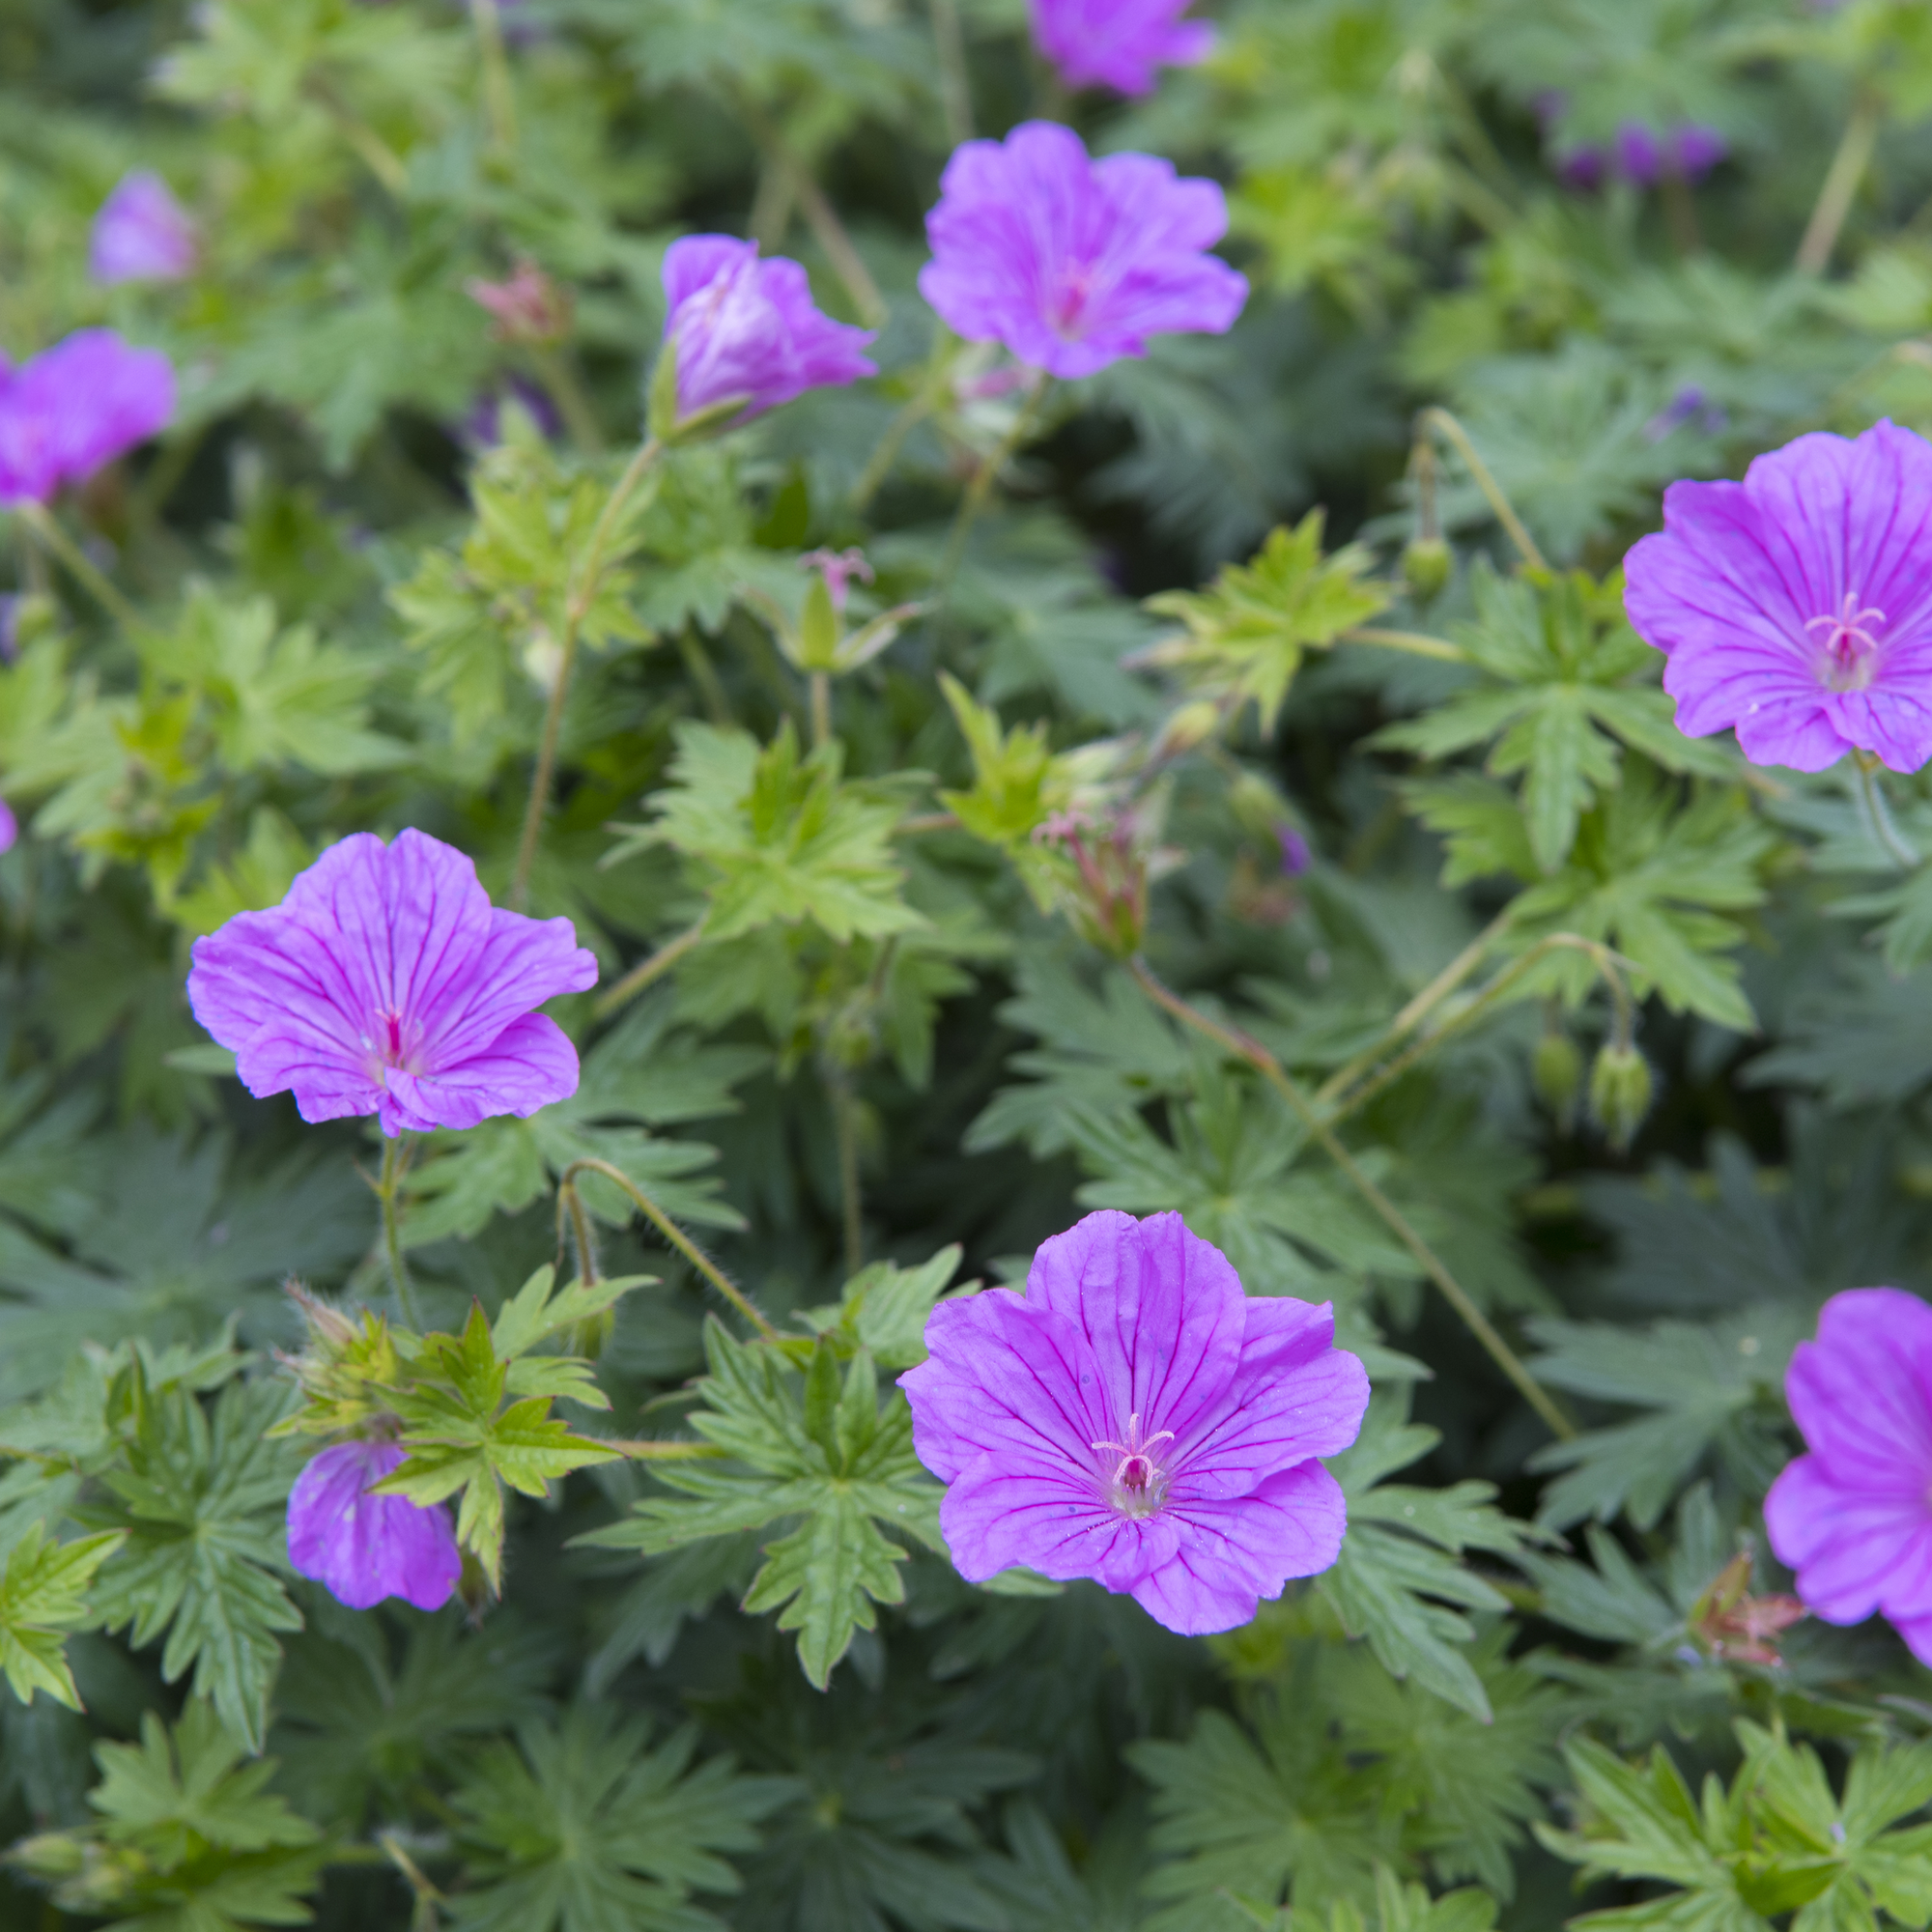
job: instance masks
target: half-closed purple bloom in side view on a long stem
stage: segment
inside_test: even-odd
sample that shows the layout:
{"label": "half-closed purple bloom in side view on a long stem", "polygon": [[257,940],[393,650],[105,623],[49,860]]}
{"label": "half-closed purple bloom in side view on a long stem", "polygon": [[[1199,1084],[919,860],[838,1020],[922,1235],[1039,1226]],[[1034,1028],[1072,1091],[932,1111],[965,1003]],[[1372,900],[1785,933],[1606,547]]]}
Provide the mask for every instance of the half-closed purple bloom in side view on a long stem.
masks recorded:
{"label": "half-closed purple bloom in side view on a long stem", "polygon": [[[665,249],[665,340],[678,348],[678,415],[742,396],[744,415],[808,388],[877,375],[869,328],[821,315],[796,261],[761,261],[755,242],[686,236]],[[742,417],[740,417],[742,421]]]}

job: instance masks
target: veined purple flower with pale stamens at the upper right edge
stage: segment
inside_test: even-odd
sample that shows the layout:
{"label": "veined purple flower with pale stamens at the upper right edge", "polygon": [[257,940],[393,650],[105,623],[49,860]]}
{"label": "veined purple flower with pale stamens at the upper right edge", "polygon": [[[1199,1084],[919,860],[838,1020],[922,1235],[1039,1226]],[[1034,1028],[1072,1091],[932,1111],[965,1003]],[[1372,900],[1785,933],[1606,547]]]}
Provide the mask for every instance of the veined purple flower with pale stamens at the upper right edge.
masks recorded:
{"label": "veined purple flower with pale stamens at the upper right edge", "polygon": [[1743,483],[1673,483],[1625,558],[1625,609],[1669,657],[1677,728],[1737,728],[1758,765],[1932,757],[1932,444],[1814,433]]}

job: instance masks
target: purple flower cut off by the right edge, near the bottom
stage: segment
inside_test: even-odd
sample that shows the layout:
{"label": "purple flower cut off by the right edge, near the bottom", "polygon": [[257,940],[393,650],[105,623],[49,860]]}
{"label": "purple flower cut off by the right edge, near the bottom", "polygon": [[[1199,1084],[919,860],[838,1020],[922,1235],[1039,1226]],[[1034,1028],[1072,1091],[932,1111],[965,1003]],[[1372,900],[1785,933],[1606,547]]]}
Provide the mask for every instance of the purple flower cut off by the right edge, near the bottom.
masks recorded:
{"label": "purple flower cut off by the right edge, near the bottom", "polygon": [[1764,1528],[1826,1623],[1880,1611],[1932,1663],[1932,1308],[1849,1289],[1785,1376],[1810,1455],[1785,1464]]}

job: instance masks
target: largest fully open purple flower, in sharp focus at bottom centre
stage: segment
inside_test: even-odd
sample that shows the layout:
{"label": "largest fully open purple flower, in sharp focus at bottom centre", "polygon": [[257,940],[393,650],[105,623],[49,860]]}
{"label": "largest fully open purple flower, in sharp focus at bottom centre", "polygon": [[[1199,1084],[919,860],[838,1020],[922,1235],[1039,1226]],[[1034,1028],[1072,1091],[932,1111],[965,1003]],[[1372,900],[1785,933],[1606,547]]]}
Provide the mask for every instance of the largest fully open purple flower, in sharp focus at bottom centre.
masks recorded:
{"label": "largest fully open purple flower, in sharp focus at bottom centre", "polygon": [[960,1575],[1092,1577],[1186,1636],[1233,1631],[1341,1549],[1362,1364],[1327,1304],[1248,1298],[1180,1215],[1090,1213],[1041,1244],[1026,1296],[941,1302],[900,1376],[945,1484]]}

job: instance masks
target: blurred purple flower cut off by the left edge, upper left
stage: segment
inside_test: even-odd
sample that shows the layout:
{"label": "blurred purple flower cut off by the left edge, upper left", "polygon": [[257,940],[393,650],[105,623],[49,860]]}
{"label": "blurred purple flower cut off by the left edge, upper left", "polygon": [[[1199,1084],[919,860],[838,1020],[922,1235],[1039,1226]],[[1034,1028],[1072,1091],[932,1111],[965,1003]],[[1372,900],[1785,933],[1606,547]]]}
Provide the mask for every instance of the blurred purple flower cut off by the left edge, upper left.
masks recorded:
{"label": "blurred purple flower cut off by the left edge, upper left", "polygon": [[174,369],[112,328],[81,328],[17,369],[0,363],[0,506],[46,502],[168,425]]}

